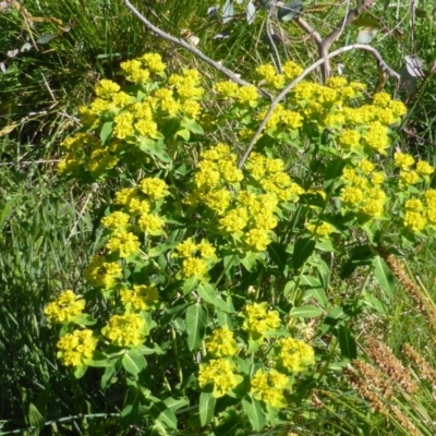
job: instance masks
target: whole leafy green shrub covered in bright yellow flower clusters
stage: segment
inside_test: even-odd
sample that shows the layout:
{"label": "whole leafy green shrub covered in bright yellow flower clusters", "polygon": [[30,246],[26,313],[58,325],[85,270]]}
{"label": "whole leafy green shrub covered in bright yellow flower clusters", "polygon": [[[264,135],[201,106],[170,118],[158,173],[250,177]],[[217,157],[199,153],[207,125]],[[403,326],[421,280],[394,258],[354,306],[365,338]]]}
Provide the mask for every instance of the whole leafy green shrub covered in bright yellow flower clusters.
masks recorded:
{"label": "whole leafy green shrub covered in bright yellow flower clusters", "polygon": [[[105,368],[102,389],[125,380],[122,414],[159,434],[304,420],[295,405],[329,364],[355,358],[349,320],[366,307],[338,300],[331,280],[371,264],[386,277],[378,247],[407,250],[436,225],[433,167],[390,159],[404,106],[386,93],[366,101],[343,77],[300,83],[239,168],[267,111],[255,86],[218,82],[206,97],[197,71],[168,75],[155,53],[121,69],[130,84],[100,81],[83,131],[63,143],[62,174],[123,186],[100,220],[84,300],[66,291],[46,307],[63,324],[62,363],[76,377]],[[256,70],[272,90],[301,71]]]}

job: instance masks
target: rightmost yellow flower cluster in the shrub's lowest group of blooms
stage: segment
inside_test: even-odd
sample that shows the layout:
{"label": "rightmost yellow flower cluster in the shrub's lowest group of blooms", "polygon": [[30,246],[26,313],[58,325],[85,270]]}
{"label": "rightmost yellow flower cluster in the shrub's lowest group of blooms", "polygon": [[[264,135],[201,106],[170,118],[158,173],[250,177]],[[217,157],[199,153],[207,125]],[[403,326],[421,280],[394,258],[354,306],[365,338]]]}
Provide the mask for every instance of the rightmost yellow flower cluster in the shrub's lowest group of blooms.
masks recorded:
{"label": "rightmost yellow flower cluster in the shrub's lowest group of blooms", "polygon": [[314,349],[300,339],[282,338],[279,347],[280,364],[293,373],[307,371],[315,364]]}

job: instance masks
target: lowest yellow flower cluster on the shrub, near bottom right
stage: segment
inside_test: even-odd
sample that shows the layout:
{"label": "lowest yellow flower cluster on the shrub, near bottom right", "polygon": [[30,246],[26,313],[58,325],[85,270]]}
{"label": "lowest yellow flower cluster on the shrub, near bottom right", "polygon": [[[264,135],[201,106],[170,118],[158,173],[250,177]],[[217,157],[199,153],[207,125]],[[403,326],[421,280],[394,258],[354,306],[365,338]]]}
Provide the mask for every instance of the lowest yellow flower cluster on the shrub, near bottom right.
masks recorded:
{"label": "lowest yellow flower cluster on the shrub, near bottom right", "polygon": [[283,390],[290,389],[289,378],[271,368],[258,370],[251,380],[251,392],[256,400],[264,401],[272,408],[287,405]]}

